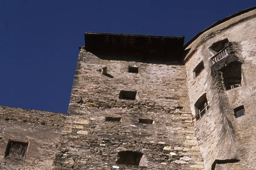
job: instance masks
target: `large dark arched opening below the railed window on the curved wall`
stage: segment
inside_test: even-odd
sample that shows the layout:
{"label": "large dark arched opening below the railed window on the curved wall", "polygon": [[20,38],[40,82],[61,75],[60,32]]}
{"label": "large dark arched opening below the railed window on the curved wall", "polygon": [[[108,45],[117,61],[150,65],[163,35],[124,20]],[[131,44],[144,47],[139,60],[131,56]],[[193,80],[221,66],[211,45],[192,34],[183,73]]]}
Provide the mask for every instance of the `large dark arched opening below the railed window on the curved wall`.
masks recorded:
{"label": "large dark arched opening below the railed window on the curved wall", "polygon": [[226,90],[241,86],[241,62],[231,62],[222,72]]}

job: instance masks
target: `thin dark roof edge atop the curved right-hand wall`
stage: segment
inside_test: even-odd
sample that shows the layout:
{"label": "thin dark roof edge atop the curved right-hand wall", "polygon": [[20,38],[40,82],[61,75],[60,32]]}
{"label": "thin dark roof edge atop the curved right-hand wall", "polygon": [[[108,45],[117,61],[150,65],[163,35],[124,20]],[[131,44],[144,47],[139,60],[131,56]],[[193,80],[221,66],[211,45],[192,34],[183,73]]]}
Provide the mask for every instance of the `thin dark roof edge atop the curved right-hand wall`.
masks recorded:
{"label": "thin dark roof edge atop the curved right-hand wall", "polygon": [[242,11],[239,11],[239,12],[236,12],[235,14],[233,15],[230,15],[228,17],[225,17],[223,18],[222,20],[218,20],[217,22],[213,23],[211,26],[209,26],[208,28],[205,28],[203,31],[199,32],[198,34],[196,34],[191,40],[189,40],[185,45],[184,45],[184,49],[187,48],[189,46],[189,44],[191,44],[193,41],[195,41],[201,34],[203,34],[204,32],[208,31],[209,29],[215,27],[215,26],[218,26],[219,24],[221,23],[224,23],[225,21],[227,20],[230,20],[231,18],[234,18],[234,17],[237,17],[241,14],[244,14],[244,13],[247,13],[249,11],[252,11],[256,9],[256,6],[253,6],[253,7],[250,7],[250,8],[247,8],[247,9],[244,9]]}

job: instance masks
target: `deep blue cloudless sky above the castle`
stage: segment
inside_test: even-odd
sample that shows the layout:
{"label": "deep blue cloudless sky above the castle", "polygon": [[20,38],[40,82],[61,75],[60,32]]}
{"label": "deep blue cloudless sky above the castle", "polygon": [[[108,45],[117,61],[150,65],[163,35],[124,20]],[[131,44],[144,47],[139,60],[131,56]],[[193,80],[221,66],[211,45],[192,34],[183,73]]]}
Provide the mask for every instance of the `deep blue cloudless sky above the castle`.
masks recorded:
{"label": "deep blue cloudless sky above the castle", "polygon": [[0,0],[0,105],[67,113],[84,32],[185,36],[255,0]]}

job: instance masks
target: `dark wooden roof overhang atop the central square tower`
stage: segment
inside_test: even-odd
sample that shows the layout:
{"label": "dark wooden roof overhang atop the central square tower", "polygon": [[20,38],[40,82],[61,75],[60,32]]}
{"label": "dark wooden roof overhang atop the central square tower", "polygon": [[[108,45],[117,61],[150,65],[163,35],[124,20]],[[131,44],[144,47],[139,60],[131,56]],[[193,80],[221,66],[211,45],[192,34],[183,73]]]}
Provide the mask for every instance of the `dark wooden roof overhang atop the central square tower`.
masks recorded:
{"label": "dark wooden roof overhang atop the central square tower", "polygon": [[84,33],[85,49],[90,52],[137,53],[180,60],[184,37],[137,34]]}

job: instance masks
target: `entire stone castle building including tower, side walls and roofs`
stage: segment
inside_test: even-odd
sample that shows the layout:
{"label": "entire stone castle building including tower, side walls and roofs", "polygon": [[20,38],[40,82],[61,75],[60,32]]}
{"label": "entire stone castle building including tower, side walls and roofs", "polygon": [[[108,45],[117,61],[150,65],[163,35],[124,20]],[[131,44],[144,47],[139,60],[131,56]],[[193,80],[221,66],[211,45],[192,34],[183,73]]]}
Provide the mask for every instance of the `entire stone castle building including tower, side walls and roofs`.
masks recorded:
{"label": "entire stone castle building including tower, side walls and roofs", "polygon": [[0,106],[0,169],[256,169],[255,28],[252,7],[185,46],[85,33],[67,114]]}

